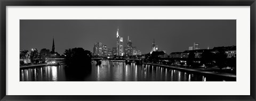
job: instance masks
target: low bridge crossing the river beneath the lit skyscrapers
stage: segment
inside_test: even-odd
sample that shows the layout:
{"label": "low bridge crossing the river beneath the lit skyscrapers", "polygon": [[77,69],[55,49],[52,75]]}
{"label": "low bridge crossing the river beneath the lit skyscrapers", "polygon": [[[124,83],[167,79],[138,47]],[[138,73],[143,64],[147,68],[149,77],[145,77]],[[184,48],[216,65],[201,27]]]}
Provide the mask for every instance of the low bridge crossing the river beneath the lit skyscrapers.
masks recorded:
{"label": "low bridge crossing the river beneath the lit skyscrapers", "polygon": [[97,64],[100,60],[111,60],[111,61],[123,61],[125,64],[135,62],[136,64],[142,64],[142,60],[139,59],[131,59],[131,58],[92,58],[92,60],[96,61]]}

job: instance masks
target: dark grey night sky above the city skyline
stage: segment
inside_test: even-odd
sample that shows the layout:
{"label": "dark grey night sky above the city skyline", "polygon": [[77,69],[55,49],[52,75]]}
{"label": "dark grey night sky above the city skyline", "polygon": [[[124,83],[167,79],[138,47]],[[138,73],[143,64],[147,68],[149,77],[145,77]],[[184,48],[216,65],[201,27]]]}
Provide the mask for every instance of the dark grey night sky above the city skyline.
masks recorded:
{"label": "dark grey night sky above the city skyline", "polygon": [[82,47],[93,52],[93,45],[101,42],[107,48],[116,47],[116,31],[127,37],[142,54],[151,51],[155,43],[159,50],[183,52],[193,43],[207,47],[236,45],[236,20],[20,20],[20,49],[65,49]]}

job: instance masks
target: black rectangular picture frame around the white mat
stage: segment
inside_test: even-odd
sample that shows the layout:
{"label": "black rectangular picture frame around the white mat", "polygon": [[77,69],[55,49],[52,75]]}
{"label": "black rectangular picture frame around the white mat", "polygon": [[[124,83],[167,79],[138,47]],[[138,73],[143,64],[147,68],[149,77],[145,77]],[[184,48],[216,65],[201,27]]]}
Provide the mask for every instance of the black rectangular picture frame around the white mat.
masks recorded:
{"label": "black rectangular picture frame around the white mat", "polygon": [[[255,100],[255,0],[1,0],[1,100]],[[6,6],[250,6],[250,95],[207,96],[14,96],[6,95]],[[236,88],[234,88],[236,89]]]}

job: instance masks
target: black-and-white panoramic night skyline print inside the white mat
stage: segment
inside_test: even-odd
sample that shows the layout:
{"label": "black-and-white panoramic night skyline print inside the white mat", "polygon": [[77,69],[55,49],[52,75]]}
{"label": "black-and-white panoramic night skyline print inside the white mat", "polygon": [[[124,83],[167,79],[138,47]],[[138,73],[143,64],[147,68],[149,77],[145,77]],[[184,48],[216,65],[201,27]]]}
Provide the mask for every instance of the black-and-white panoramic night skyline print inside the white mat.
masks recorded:
{"label": "black-and-white panoramic night skyline print inside the white mat", "polygon": [[20,20],[20,81],[236,81],[236,20]]}

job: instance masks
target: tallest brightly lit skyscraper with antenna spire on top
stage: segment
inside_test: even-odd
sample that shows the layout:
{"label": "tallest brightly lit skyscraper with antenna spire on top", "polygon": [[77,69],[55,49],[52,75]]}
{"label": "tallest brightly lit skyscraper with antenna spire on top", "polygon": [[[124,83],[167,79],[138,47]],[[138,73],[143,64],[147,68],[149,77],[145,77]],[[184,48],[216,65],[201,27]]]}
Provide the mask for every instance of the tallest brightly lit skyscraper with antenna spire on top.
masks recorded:
{"label": "tallest brightly lit skyscraper with antenna spire on top", "polygon": [[118,34],[119,28],[117,28],[116,31],[116,49],[117,49],[117,56],[123,56],[124,55],[124,49],[123,49],[123,37],[120,37]]}

